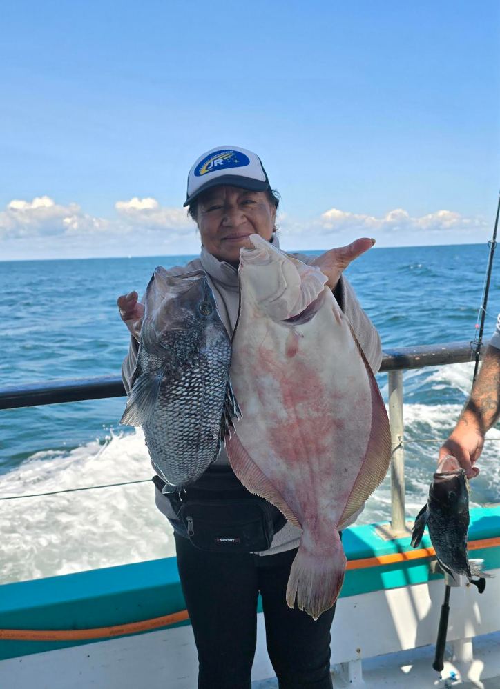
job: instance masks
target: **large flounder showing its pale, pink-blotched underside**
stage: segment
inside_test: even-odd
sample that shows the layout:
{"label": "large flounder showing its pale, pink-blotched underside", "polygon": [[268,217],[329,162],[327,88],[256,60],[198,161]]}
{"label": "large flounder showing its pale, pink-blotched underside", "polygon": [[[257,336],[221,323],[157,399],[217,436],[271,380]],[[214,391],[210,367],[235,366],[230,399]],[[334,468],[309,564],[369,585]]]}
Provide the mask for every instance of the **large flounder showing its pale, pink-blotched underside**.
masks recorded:
{"label": "large flounder showing its pale, pink-blotched underside", "polygon": [[302,528],[287,603],[317,619],[344,579],[338,530],[387,472],[389,421],[325,275],[249,239],[231,363],[242,419],[227,452],[244,486]]}

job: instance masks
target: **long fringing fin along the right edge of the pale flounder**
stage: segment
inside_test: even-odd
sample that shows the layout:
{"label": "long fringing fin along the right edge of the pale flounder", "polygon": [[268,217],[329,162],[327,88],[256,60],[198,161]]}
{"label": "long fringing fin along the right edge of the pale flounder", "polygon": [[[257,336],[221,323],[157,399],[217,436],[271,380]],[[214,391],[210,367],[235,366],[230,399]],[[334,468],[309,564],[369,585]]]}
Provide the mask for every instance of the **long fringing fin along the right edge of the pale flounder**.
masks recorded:
{"label": "long fringing fin along the right edge of the pale flounder", "polygon": [[[349,323],[349,321],[347,321],[347,323]],[[356,481],[354,481],[354,486],[352,487],[351,495],[349,495],[347,499],[343,515],[340,517],[340,528],[342,528],[349,517],[352,517],[352,515],[363,507],[365,501],[372,495],[372,492],[380,486],[383,479],[385,479],[387,469],[391,462],[391,432],[385,404],[380,390],[378,390],[372,368],[363,350],[360,348],[350,323],[349,328],[351,328],[352,337],[356,343],[360,357],[365,363],[369,378],[369,386],[372,391],[372,422],[365,459],[360,467]]]}

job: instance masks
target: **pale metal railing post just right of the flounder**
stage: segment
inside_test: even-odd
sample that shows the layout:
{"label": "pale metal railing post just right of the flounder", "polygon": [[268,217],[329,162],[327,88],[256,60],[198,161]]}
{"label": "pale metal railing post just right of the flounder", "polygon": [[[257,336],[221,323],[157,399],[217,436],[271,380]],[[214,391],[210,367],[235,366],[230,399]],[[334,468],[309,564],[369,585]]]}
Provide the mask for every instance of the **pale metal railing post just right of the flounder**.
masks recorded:
{"label": "pale metal railing post just right of the flounder", "polygon": [[389,422],[391,426],[391,528],[405,532],[405,450],[403,448],[403,371],[390,371]]}

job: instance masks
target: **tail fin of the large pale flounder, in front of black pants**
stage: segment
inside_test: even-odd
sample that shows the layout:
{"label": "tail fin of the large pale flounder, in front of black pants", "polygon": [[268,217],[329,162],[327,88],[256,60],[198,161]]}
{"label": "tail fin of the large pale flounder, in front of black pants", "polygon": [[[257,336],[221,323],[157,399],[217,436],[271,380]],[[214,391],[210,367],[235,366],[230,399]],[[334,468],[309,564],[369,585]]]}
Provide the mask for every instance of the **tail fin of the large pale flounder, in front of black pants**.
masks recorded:
{"label": "tail fin of the large pale flounder, in front of black pants", "polygon": [[[313,619],[334,605],[344,581],[347,559],[338,531],[333,532],[334,543],[314,543],[302,534],[287,585],[287,604],[305,610]],[[330,534],[331,536],[331,534]]]}

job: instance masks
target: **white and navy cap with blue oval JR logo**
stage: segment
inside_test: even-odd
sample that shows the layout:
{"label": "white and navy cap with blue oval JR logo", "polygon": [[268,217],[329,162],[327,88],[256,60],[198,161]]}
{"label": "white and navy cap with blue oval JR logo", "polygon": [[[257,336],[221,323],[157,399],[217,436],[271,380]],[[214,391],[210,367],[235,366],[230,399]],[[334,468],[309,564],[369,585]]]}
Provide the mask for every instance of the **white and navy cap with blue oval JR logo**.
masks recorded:
{"label": "white and navy cap with blue oval JR logo", "polygon": [[218,146],[200,156],[189,170],[184,206],[189,206],[202,192],[220,184],[251,191],[270,188],[258,155],[238,146]]}

